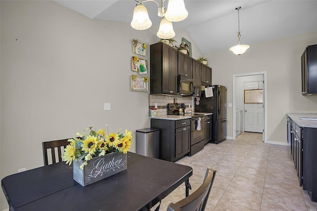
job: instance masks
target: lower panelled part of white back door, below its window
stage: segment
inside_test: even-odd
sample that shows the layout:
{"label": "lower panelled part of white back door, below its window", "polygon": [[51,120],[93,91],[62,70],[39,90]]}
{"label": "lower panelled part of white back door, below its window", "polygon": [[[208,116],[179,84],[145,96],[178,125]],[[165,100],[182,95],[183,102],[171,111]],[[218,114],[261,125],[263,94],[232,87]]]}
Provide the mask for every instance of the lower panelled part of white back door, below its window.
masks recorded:
{"label": "lower panelled part of white back door, below its window", "polygon": [[244,131],[263,133],[263,104],[244,104]]}

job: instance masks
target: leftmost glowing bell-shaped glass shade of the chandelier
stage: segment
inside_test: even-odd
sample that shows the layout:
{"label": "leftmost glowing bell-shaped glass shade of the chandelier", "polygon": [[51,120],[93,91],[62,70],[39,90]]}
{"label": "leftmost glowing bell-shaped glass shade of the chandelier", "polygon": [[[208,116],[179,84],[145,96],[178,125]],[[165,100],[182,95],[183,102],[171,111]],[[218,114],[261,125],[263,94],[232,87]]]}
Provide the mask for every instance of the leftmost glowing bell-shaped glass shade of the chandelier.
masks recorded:
{"label": "leftmost glowing bell-shaped glass shade of the chandelier", "polygon": [[135,6],[131,26],[137,30],[145,30],[152,26],[152,21],[149,18],[148,10],[143,5],[143,3],[138,3]]}

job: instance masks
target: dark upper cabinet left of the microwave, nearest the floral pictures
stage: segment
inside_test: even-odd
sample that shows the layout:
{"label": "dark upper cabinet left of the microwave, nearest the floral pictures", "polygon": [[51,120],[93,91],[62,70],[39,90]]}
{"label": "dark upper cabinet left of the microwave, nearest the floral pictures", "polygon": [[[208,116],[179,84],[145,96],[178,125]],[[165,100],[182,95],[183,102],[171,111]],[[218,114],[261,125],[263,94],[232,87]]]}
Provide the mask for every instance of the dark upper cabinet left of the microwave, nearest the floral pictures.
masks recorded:
{"label": "dark upper cabinet left of the microwave, nearest the floral pictures", "polygon": [[177,52],[164,43],[150,46],[150,94],[177,94]]}

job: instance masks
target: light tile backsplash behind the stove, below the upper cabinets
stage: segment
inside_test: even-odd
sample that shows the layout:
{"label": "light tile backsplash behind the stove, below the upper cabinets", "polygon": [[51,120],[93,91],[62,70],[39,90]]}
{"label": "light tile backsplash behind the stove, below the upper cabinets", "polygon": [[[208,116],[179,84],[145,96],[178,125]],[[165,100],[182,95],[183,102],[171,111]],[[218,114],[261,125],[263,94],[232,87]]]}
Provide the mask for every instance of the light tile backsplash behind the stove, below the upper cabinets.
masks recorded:
{"label": "light tile backsplash behind the stove, below the upper cabinets", "polygon": [[149,95],[149,115],[150,109],[158,104],[158,116],[167,115],[167,104],[174,103],[174,98],[177,99],[178,104],[185,104],[186,107],[193,106],[194,98],[191,97],[178,97],[178,96],[167,96],[167,95]]}

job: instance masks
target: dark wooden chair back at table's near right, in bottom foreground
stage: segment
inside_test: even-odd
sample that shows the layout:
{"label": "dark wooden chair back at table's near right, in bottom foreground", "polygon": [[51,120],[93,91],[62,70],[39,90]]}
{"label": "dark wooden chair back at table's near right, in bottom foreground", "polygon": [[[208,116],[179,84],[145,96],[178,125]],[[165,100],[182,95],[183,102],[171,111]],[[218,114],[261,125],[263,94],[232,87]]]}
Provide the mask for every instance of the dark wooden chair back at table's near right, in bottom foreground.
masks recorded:
{"label": "dark wooden chair back at table's near right, in bottom foreground", "polygon": [[203,184],[185,199],[170,203],[167,211],[204,211],[215,174],[216,170],[208,167]]}

